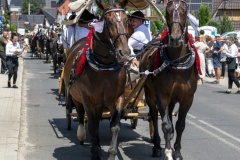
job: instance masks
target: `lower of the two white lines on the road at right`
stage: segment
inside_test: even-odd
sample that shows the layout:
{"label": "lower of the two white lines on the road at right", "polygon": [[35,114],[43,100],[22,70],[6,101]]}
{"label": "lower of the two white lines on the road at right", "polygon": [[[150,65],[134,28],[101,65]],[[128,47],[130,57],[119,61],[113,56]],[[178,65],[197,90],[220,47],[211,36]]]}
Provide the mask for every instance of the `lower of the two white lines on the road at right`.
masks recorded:
{"label": "lower of the two white lines on the road at right", "polygon": [[219,137],[219,136],[211,133],[209,130],[207,130],[207,129],[205,129],[205,128],[199,126],[199,125],[197,125],[196,123],[194,123],[194,122],[192,122],[192,121],[190,121],[190,120],[187,120],[187,122],[190,123],[190,124],[192,124],[192,125],[195,126],[196,128],[198,128],[198,129],[206,132],[206,133],[209,134],[210,136],[215,137],[215,138],[218,139],[219,141],[221,141],[221,142],[223,142],[223,143],[225,143],[225,144],[233,147],[233,148],[236,149],[238,152],[240,152],[240,147],[238,147],[238,146],[232,144],[231,142],[229,142],[229,141],[227,141],[227,140],[225,140],[225,139],[223,139],[223,138],[221,138],[221,137]]}

